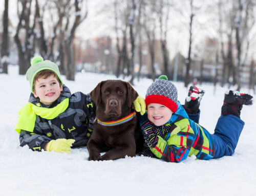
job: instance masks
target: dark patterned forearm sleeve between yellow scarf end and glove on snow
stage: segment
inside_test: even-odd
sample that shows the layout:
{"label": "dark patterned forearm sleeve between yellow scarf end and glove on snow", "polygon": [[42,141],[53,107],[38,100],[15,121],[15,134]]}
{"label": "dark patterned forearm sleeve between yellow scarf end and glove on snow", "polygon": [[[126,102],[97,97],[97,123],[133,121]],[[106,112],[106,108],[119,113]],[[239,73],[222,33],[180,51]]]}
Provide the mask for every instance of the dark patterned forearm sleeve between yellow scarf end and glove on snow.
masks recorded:
{"label": "dark patterned forearm sleeve between yellow scarf end and glove on snow", "polygon": [[20,146],[28,145],[33,151],[41,151],[45,149],[45,145],[51,141],[47,136],[40,135],[37,130],[34,132],[27,132],[26,130],[20,130],[19,142]]}

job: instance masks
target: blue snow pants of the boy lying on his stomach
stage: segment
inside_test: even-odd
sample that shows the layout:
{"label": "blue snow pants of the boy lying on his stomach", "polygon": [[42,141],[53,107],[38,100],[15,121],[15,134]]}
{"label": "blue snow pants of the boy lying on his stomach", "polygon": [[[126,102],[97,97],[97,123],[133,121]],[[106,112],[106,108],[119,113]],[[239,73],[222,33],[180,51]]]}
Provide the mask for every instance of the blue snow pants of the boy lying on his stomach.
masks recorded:
{"label": "blue snow pants of the boy lying on his stomach", "polygon": [[[200,112],[197,114],[188,114],[188,117],[198,123]],[[234,149],[237,147],[243,127],[244,121],[237,116],[231,114],[220,116],[215,127],[215,132],[214,134],[211,134],[215,147],[214,158],[231,156],[234,154]]]}

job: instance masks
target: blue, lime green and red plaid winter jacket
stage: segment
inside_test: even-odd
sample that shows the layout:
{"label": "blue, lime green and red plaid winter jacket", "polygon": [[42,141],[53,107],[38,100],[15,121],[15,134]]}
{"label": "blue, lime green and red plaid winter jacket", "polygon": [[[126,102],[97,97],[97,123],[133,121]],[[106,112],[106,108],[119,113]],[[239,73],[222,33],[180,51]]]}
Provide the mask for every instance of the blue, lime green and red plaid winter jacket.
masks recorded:
{"label": "blue, lime green and red plaid winter jacket", "polygon": [[[213,158],[215,148],[211,134],[204,127],[188,118],[179,101],[177,104],[178,110],[165,124],[165,126],[172,125],[170,131],[163,137],[157,136],[157,145],[150,148],[151,152],[157,158],[167,162],[181,162],[191,155],[203,160]],[[146,119],[146,115],[140,118],[141,124]],[[143,127],[141,128],[143,131]],[[144,148],[146,147],[144,145]]]}

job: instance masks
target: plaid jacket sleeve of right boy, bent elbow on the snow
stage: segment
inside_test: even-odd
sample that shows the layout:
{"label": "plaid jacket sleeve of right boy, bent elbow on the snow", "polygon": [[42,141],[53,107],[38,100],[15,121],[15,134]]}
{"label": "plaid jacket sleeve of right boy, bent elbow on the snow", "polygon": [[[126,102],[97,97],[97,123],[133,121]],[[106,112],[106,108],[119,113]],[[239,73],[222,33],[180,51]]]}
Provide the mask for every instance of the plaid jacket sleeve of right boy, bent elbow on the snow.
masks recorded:
{"label": "plaid jacket sleeve of right boy, bent elbow on the snow", "polygon": [[167,140],[158,136],[157,145],[150,149],[157,158],[166,162],[181,162],[188,157],[194,136],[189,124],[182,128],[178,126],[172,133],[165,136]]}

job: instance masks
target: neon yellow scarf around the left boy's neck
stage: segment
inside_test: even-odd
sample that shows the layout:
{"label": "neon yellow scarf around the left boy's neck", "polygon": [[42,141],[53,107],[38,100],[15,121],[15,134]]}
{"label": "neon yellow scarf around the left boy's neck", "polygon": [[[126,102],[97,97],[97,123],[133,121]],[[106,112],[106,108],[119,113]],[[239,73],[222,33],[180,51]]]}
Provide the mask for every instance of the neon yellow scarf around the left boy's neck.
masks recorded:
{"label": "neon yellow scarf around the left boy's neck", "polygon": [[59,114],[64,112],[69,106],[69,98],[64,99],[52,108],[38,107],[32,103],[27,103],[22,107],[22,110],[18,112],[19,119],[16,124],[15,130],[20,133],[20,130],[27,130],[33,132],[35,127],[36,115],[45,119],[54,119]]}

